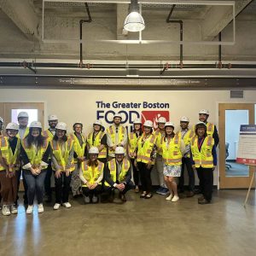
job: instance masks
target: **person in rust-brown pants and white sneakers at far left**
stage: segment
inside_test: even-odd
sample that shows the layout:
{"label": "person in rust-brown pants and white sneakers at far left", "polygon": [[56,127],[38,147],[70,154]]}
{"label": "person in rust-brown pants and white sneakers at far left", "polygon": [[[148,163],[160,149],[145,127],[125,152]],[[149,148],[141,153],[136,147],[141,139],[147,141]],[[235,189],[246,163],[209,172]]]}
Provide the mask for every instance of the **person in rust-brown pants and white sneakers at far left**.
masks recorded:
{"label": "person in rust-brown pants and white sneakers at far left", "polygon": [[19,125],[6,126],[7,137],[0,137],[0,194],[3,196],[3,215],[18,212],[16,171],[20,168],[20,139],[16,137]]}

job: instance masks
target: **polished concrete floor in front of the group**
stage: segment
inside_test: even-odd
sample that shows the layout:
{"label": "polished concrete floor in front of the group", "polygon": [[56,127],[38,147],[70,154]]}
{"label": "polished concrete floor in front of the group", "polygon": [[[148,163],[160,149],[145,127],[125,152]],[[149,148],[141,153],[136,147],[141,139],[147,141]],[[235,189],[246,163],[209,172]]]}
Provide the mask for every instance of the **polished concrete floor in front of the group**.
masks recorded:
{"label": "polished concrete floor in front of the group", "polygon": [[197,197],[176,203],[165,196],[125,204],[73,207],[0,216],[0,255],[256,255],[256,203],[246,190],[215,191],[211,205]]}

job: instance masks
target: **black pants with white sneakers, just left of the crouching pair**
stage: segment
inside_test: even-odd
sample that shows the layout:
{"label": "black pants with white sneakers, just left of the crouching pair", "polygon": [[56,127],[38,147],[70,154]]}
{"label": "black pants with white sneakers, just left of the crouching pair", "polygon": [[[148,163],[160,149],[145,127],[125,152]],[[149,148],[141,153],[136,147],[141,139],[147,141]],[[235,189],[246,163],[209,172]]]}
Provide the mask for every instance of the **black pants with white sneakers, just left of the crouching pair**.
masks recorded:
{"label": "black pants with white sneakers, just left of the crouching pair", "polygon": [[68,202],[72,173],[66,176],[65,172],[61,172],[61,177],[55,177],[55,202],[57,204]]}

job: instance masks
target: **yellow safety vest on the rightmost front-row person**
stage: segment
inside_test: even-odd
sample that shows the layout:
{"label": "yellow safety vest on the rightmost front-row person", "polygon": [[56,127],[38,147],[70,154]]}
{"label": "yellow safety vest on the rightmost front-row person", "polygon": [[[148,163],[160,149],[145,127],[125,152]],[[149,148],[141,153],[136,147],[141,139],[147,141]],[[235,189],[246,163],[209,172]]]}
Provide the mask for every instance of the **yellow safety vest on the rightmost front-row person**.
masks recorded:
{"label": "yellow safety vest on the rightmost front-row person", "polygon": [[190,146],[195,162],[195,167],[199,168],[212,168],[213,167],[213,156],[212,156],[212,147],[214,145],[214,139],[211,136],[207,136],[204,142],[201,145],[201,151],[198,149],[198,137],[195,136],[192,138]]}

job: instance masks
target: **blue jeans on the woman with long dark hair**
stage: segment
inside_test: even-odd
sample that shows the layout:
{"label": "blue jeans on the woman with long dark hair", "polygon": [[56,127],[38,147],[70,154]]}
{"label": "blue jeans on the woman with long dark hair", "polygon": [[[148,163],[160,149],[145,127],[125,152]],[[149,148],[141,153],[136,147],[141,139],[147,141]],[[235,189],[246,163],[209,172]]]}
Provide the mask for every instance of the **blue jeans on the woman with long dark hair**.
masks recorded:
{"label": "blue jeans on the woman with long dark hair", "polygon": [[37,176],[32,175],[32,172],[29,170],[22,170],[22,173],[27,184],[28,205],[33,205],[35,195],[37,195],[38,204],[41,204],[44,198],[44,179],[46,176],[46,170],[42,170],[42,172]]}

